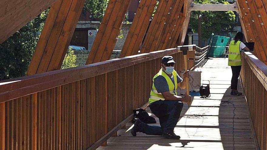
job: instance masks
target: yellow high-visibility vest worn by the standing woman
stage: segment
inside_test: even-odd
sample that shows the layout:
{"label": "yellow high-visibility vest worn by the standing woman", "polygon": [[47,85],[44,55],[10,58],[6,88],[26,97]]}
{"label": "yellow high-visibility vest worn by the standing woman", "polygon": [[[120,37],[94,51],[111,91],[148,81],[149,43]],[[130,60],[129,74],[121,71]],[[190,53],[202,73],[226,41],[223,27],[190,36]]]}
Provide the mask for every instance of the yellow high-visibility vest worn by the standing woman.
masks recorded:
{"label": "yellow high-visibility vest worn by the standing woman", "polygon": [[241,66],[241,54],[239,51],[239,45],[241,41],[232,40],[229,45],[229,52],[228,52],[228,65],[229,66]]}

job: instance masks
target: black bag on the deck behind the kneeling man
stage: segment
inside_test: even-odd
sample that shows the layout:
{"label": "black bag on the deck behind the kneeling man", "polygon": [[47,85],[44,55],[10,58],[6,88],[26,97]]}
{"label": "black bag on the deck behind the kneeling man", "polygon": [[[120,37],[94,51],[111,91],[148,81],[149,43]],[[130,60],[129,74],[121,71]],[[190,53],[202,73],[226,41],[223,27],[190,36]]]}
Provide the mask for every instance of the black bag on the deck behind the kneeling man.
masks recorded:
{"label": "black bag on the deck behind the kneeling man", "polygon": [[134,109],[133,111],[134,111],[134,118],[132,120],[132,123],[134,123],[137,120],[137,118],[139,118],[144,123],[156,123],[156,119],[149,116],[144,109],[137,108]]}

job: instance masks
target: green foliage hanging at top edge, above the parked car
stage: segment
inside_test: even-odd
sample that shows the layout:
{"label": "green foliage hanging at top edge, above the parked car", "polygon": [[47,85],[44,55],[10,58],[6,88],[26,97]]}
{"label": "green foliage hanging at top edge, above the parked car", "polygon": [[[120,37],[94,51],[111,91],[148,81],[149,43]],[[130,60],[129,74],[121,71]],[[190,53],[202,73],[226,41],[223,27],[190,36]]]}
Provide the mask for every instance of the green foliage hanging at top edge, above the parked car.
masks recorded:
{"label": "green foliage hanging at top edge, above the parked car", "polygon": [[106,11],[108,0],[86,0],[83,12],[89,11],[95,18],[102,19]]}

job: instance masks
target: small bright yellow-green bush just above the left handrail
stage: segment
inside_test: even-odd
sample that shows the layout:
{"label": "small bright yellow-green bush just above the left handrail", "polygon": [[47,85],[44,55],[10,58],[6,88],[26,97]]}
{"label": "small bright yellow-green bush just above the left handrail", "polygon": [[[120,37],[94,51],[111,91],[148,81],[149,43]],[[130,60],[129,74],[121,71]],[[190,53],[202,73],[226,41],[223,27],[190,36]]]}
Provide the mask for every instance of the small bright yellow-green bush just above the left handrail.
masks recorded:
{"label": "small bright yellow-green bush just above the left handrail", "polygon": [[68,49],[68,52],[66,53],[64,60],[63,60],[63,64],[61,66],[61,69],[77,67],[77,65],[75,65],[75,62],[76,62],[76,55],[74,54],[72,47],[70,47]]}

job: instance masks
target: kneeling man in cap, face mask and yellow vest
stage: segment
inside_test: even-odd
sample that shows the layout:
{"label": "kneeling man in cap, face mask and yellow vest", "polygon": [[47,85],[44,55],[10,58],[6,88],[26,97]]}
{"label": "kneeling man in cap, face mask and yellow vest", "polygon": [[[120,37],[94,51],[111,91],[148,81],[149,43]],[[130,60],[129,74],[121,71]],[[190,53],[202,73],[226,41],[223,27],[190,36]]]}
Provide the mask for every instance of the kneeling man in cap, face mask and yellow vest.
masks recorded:
{"label": "kneeling man in cap, face mask and yellow vest", "polygon": [[[174,134],[174,127],[183,108],[182,102],[190,103],[191,96],[177,96],[177,86],[185,88],[185,82],[174,70],[174,64],[172,56],[164,56],[161,60],[162,68],[152,79],[149,107],[152,113],[159,118],[161,126],[150,126],[137,119],[131,129],[133,136],[136,136],[136,132],[143,132],[147,135],[180,139],[180,136]],[[185,77],[189,77],[188,71],[184,72],[183,78]]]}

